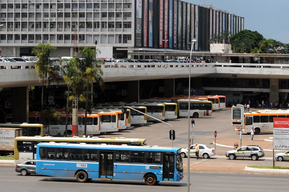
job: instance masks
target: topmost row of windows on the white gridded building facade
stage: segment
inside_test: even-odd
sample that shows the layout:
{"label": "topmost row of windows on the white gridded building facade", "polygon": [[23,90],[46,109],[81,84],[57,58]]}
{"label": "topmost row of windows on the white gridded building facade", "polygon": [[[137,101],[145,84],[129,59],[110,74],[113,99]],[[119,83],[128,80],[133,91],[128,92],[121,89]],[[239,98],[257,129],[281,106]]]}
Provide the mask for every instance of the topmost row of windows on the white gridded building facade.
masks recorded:
{"label": "topmost row of windows on the white gridded building facade", "polygon": [[[57,6],[56,6],[57,5]],[[0,8],[1,9],[13,9],[15,7],[15,9],[27,9],[29,7],[29,9],[40,9],[42,8],[42,4],[40,3],[0,3]],[[131,8],[131,4],[129,3],[125,3],[125,4],[122,4],[122,3],[51,3],[49,5],[49,3],[43,3],[43,9],[56,9],[56,7],[58,9],[61,9],[61,8]]]}

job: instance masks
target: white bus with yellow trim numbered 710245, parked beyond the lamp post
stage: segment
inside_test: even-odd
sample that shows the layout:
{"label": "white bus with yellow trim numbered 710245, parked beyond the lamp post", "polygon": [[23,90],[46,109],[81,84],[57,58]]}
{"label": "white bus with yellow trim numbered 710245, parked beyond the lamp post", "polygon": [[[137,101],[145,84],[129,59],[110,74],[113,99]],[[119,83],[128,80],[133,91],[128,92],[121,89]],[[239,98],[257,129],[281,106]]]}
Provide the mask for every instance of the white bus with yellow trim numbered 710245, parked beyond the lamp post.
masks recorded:
{"label": "white bus with yellow trim numbered 710245, parked beyond the lamp post", "polygon": [[[179,117],[188,117],[189,99],[179,99]],[[212,101],[200,101],[190,99],[190,117],[208,117],[212,116]]]}

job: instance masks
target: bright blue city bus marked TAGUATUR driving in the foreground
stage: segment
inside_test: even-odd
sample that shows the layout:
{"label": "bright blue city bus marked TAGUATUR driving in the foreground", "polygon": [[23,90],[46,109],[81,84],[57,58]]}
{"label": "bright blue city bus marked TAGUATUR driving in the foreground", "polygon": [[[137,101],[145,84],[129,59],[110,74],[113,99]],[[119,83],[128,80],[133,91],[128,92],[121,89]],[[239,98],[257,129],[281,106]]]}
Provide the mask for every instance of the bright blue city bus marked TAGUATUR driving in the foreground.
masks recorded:
{"label": "bright blue city bus marked TAGUATUR driving in the foreground", "polygon": [[184,177],[181,148],[159,146],[38,143],[36,173],[101,180],[180,181]]}

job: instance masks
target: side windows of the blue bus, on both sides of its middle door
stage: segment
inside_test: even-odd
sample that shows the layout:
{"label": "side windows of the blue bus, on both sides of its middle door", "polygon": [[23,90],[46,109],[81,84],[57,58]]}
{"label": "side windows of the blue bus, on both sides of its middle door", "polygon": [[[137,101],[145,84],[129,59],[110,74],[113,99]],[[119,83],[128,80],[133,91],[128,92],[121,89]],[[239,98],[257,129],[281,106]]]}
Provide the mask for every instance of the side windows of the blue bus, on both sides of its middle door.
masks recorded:
{"label": "side windows of the blue bus, on both sides of its middle door", "polygon": [[[40,158],[42,160],[73,160],[73,161],[101,161],[103,160],[97,149],[68,149],[68,148],[52,148],[40,147]],[[116,163],[148,163],[160,164],[160,152],[144,152],[144,151],[114,151],[114,162]]]}

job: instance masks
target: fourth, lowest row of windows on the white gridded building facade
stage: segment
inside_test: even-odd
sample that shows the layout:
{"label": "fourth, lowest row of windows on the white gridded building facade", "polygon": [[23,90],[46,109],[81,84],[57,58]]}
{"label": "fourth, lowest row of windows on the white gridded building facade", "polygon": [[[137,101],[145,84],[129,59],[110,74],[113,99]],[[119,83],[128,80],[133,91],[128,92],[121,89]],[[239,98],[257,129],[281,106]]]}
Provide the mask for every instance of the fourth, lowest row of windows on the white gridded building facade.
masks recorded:
{"label": "fourth, lowest row of windows on the white gridded building facade", "polygon": [[[31,34],[31,35],[27,35],[27,34],[0,34],[0,40],[13,40],[13,36],[14,36],[14,40],[55,40],[56,35],[55,34],[51,34],[51,35],[42,35],[41,34]],[[114,35],[108,35],[108,37],[114,37]],[[118,35],[119,40],[121,41],[121,38],[123,37],[123,43],[127,43],[127,40],[131,40],[131,35]],[[73,40],[74,39],[74,35],[57,35],[57,40]],[[78,40],[85,40],[85,35],[79,35],[78,36]]]}

